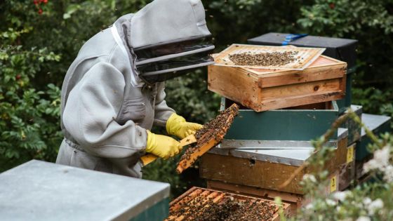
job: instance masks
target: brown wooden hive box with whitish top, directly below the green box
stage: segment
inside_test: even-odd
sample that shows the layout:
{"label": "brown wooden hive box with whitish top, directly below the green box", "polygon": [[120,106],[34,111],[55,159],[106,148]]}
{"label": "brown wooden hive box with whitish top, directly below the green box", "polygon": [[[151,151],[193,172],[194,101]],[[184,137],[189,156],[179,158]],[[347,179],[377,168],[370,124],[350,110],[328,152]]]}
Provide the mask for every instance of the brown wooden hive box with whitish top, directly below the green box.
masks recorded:
{"label": "brown wooden hive box with whitish top, directly below the green box", "polygon": [[[347,163],[347,129],[341,128],[333,157],[324,169],[338,173]],[[213,148],[201,157],[199,173],[206,180],[218,180],[236,185],[272,189],[291,194],[303,194],[303,175],[315,170],[302,165],[312,155],[312,149],[220,149]],[[280,187],[296,170],[295,178]]]}

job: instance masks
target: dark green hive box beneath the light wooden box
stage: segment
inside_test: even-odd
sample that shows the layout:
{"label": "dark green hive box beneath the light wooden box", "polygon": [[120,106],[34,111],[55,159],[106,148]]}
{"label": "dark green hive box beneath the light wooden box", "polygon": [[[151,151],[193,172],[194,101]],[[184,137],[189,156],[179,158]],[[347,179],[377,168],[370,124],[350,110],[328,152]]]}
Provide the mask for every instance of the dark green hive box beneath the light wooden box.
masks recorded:
{"label": "dark green hive box beneath the light wooden box", "polygon": [[[222,98],[221,109],[229,107],[232,102]],[[241,107],[221,147],[283,147],[283,142],[287,141],[291,141],[293,145],[292,141],[302,141],[293,147],[312,147],[309,140],[323,135],[337,118],[338,106],[335,101],[265,112],[254,112]],[[331,140],[337,141],[337,133]]]}

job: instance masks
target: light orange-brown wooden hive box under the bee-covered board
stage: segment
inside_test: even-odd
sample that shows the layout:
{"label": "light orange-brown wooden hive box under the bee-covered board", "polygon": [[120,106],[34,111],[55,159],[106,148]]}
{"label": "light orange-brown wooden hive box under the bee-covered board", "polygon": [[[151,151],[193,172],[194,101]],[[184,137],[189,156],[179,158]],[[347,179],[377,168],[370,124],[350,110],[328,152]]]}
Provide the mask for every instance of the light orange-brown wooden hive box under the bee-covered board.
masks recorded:
{"label": "light orange-brown wooden hive box under the bee-covered board", "polygon": [[303,70],[208,66],[208,90],[256,112],[345,96],[347,63],[321,55]]}

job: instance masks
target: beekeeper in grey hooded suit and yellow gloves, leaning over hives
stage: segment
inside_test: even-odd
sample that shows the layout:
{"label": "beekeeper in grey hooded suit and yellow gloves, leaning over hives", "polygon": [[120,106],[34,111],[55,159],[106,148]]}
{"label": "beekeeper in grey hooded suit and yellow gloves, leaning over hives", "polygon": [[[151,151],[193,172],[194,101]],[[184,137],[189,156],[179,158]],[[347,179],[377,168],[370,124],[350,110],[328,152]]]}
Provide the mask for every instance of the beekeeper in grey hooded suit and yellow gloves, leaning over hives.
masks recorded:
{"label": "beekeeper in grey hooded suit and yellow gloves, leaning over hives", "polygon": [[164,81],[213,64],[200,0],[155,0],[82,46],[62,85],[56,163],[141,178],[140,157],[178,154],[201,128],[166,105]]}

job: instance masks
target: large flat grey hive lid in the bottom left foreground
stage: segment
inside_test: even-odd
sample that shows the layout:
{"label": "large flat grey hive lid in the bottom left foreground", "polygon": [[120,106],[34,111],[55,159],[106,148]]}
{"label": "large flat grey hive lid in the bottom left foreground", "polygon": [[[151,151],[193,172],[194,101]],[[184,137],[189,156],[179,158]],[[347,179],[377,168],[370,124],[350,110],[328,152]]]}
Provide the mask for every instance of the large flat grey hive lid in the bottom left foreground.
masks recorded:
{"label": "large flat grey hive lid in the bottom left foreground", "polygon": [[0,174],[2,220],[130,220],[169,184],[32,160]]}

